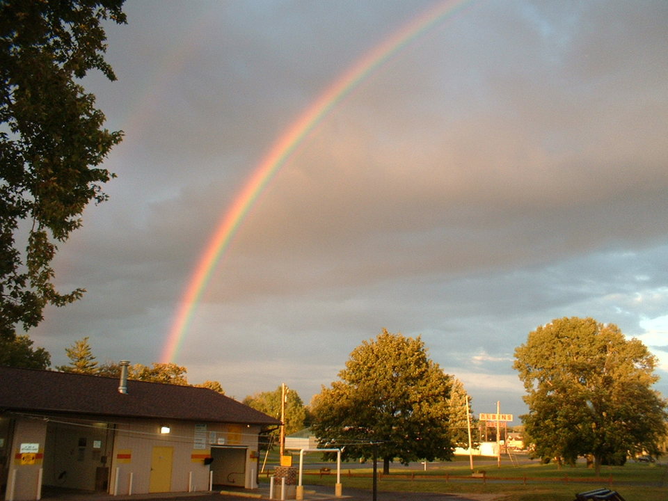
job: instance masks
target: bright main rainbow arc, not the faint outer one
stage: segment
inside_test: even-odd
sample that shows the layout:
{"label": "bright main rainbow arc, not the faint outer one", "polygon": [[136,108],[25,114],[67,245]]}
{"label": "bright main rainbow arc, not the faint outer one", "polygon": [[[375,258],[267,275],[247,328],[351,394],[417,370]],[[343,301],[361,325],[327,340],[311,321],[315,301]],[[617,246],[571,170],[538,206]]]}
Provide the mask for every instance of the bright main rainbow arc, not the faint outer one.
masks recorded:
{"label": "bright main rainbow arc, not the faint outer one", "polygon": [[207,288],[209,278],[211,278],[218,260],[230,245],[230,241],[232,241],[241,222],[244,221],[244,216],[248,214],[250,207],[253,206],[253,202],[260,196],[264,187],[278,173],[278,170],[294,153],[304,138],[312,132],[334,106],[349,95],[351,90],[356,88],[369,74],[420,35],[442,22],[446,17],[461,10],[466,4],[472,3],[472,1],[440,1],[411,19],[401,29],[392,33],[351,65],[278,137],[278,140],[273,143],[260,161],[241,192],[234,198],[230,208],[223,214],[214,234],[209,239],[198,260],[195,271],[179,301],[173,324],[160,356],[162,363],[171,362],[176,358],[200,296]]}

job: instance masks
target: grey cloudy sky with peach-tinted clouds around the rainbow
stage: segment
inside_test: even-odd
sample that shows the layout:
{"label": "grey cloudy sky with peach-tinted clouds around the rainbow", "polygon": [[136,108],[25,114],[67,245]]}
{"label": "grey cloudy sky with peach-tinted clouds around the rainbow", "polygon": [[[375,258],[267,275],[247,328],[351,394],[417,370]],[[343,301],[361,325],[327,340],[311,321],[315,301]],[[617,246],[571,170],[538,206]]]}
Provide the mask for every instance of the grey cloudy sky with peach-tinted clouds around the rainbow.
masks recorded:
{"label": "grey cloudy sky with peach-tinted clouds around the rainbow", "polygon": [[[299,143],[212,270],[173,362],[308,403],[387,328],[421,335],[474,410],[524,413],[536,326],[619,325],[668,395],[668,3],[129,1],[88,90],[125,131],[109,202],[61,246],[35,344],[159,361],[214,231],[327,89],[424,13]],[[434,20],[434,19],[432,19]],[[518,424],[516,420],[515,424]]]}

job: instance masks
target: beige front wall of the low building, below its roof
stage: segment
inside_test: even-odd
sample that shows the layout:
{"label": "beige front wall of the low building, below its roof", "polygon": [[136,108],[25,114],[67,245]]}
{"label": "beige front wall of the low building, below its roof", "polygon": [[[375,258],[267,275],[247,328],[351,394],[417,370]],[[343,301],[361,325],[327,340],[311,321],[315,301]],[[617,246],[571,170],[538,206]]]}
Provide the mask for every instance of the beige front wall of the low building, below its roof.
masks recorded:
{"label": "beige front wall of the low building, below its roof", "polygon": [[[113,432],[109,430],[109,433],[104,429],[103,435],[101,429],[90,425],[70,430],[62,425],[51,427],[47,425],[47,420],[16,419],[5,499],[37,500],[42,485],[90,490],[100,464],[109,466],[109,493],[127,495],[131,487],[133,494],[149,493],[154,447],[170,447],[173,451],[169,484],[164,492],[208,491],[209,472],[216,470],[225,477],[232,473],[233,485],[257,488],[259,426],[164,420],[115,421],[118,423],[116,429]],[[160,433],[161,426],[165,424],[170,427],[169,434]],[[79,447],[79,439],[84,437],[86,445]],[[107,437],[113,443],[106,443]],[[97,444],[95,440],[101,440],[101,443]],[[26,447],[26,444],[36,444],[38,452],[34,457],[22,456],[21,447]],[[100,445],[99,450],[97,445]],[[205,459],[212,456],[212,445],[223,447],[223,450],[234,447],[234,463],[227,466],[223,461],[205,464]],[[31,461],[26,463],[26,459]],[[54,483],[61,470],[67,474]],[[63,479],[65,483],[61,482]]]}

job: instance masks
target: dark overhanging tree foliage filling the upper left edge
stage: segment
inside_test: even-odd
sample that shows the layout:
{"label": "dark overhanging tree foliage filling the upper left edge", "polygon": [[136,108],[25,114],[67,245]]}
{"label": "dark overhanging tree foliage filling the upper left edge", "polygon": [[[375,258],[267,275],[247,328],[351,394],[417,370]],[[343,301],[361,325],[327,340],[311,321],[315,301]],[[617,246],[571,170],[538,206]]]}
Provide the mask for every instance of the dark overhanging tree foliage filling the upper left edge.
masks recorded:
{"label": "dark overhanging tree foliage filling the upper left edge", "polygon": [[121,132],[102,127],[104,114],[81,79],[100,70],[116,79],[102,54],[101,22],[125,22],[124,0],[0,2],[0,337],[17,324],[40,323],[61,294],[51,262],[57,244],[81,225],[91,200],[113,174],[100,165]]}

